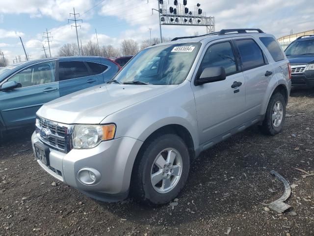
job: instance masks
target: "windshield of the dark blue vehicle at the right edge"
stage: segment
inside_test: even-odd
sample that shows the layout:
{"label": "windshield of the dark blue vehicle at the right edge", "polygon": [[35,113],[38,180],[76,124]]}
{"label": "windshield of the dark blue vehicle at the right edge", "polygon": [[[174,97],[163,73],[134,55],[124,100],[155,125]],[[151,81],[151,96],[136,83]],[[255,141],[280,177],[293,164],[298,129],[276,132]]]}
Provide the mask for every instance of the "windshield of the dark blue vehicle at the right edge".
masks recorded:
{"label": "windshield of the dark blue vehicle at the right edge", "polygon": [[314,54],[314,39],[295,41],[288,46],[285,53],[287,56]]}

